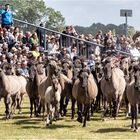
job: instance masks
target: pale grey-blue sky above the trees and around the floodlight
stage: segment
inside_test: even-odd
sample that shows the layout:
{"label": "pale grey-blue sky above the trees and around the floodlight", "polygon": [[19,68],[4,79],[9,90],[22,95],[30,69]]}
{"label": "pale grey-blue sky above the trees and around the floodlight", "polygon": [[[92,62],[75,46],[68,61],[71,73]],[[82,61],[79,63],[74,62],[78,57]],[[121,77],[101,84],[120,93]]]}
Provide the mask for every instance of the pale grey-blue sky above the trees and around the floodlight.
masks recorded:
{"label": "pale grey-blue sky above the trees and around the floodlight", "polygon": [[45,0],[47,7],[52,7],[65,17],[67,25],[90,26],[92,23],[125,22],[120,17],[120,9],[131,9],[133,17],[128,24],[140,30],[140,0]]}

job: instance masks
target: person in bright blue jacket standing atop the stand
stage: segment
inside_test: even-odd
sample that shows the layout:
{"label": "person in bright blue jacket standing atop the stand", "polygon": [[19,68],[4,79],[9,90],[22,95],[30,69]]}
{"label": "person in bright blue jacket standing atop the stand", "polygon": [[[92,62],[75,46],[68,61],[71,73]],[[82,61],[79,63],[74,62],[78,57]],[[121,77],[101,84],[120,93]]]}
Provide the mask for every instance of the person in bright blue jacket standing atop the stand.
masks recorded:
{"label": "person in bright blue jacket standing atop the stand", "polygon": [[13,17],[9,4],[5,5],[5,9],[2,11],[1,18],[2,28],[6,28],[8,30],[13,25]]}

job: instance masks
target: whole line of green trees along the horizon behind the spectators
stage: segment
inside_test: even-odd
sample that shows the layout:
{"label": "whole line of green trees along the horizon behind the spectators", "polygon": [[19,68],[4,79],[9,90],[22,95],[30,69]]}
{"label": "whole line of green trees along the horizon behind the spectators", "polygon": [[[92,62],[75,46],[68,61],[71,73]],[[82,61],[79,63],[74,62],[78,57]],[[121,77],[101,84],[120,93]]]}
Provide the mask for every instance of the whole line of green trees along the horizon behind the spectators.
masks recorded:
{"label": "whole line of green trees along the horizon behind the spectators", "polygon": [[[60,11],[48,7],[44,0],[1,0],[0,5],[9,3],[14,14],[14,18],[27,21],[32,24],[39,25],[43,22],[46,28],[62,31],[65,28],[65,18]],[[89,27],[75,26],[79,34],[93,34],[95,35],[99,30],[103,33],[111,30],[114,35],[125,34],[125,24],[114,25],[102,23],[93,23]],[[135,29],[128,26],[128,35],[133,35]]]}

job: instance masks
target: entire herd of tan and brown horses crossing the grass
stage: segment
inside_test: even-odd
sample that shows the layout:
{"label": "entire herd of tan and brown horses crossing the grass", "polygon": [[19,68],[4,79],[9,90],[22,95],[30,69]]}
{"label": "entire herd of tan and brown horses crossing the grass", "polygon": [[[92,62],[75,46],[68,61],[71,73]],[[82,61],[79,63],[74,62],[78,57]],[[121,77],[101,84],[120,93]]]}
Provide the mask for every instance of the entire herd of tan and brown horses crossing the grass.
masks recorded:
{"label": "entire herd of tan and brown horses crossing the grass", "polygon": [[[116,118],[123,101],[126,111],[131,113],[132,125],[138,130],[138,110],[140,103],[139,61],[129,57],[108,56],[96,62],[91,69],[83,59],[74,62],[68,59],[50,58],[46,62],[29,66],[29,78],[16,75],[16,66],[8,64],[0,68],[0,98],[4,98],[6,119],[18,108],[22,109],[25,94],[30,101],[30,117],[43,116],[46,126],[67,115],[71,101],[71,118],[86,126],[93,111],[103,106],[103,118]],[[6,68],[8,66],[8,68]],[[103,101],[103,102],[101,102]]]}

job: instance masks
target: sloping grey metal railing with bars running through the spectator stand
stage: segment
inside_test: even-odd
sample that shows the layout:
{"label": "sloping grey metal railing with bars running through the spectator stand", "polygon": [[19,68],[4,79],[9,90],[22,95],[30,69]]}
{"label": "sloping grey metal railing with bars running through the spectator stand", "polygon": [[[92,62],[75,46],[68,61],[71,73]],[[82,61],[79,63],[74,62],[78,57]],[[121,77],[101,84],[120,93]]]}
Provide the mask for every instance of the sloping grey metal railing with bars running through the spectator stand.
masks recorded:
{"label": "sloping grey metal railing with bars running through the spectator stand", "polygon": [[[47,40],[46,40],[46,35],[47,34],[52,34],[52,35],[55,35],[55,36],[59,36],[60,48],[62,48],[62,47],[67,48],[69,50],[69,52],[71,52],[71,47],[75,46],[77,48],[78,55],[79,56],[81,56],[81,55],[85,56],[86,58],[88,58],[90,50],[94,49],[96,46],[99,46],[101,49],[104,48],[104,46],[101,45],[101,44],[97,44],[95,42],[83,40],[83,39],[80,39],[79,37],[70,36],[68,34],[64,34],[64,33],[61,33],[61,32],[55,31],[55,30],[51,30],[51,29],[48,29],[48,28],[37,26],[37,25],[31,24],[31,23],[28,23],[28,22],[25,22],[25,21],[18,20],[18,19],[14,19],[14,24],[15,24],[15,26],[20,27],[20,29],[22,29],[24,32],[34,31],[37,28],[42,29],[43,33],[44,33],[44,44],[43,44],[43,46],[45,48],[45,51],[47,51]],[[117,49],[115,51],[120,53],[120,54],[133,57],[130,53],[123,52],[123,51],[117,50]]]}

